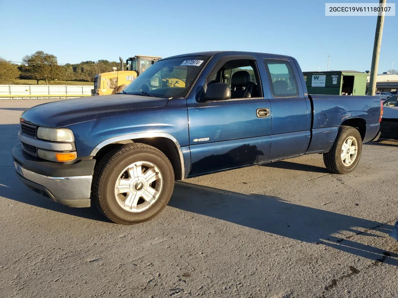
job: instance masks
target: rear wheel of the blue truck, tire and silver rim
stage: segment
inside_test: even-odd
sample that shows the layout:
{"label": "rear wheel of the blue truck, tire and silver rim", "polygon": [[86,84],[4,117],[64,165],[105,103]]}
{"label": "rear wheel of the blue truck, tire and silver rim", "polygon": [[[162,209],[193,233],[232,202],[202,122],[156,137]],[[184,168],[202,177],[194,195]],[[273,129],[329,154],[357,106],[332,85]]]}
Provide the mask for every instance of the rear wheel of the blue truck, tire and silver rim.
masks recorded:
{"label": "rear wheel of the blue truck, tire and silver rim", "polygon": [[[354,145],[348,148],[347,143],[345,143],[347,140],[351,140],[352,144]],[[343,145],[344,148],[347,148],[347,150],[345,150],[344,157],[342,155]],[[352,149],[353,147],[357,148],[355,158],[352,153],[354,152],[354,150]],[[350,150],[348,151],[348,149]],[[324,163],[326,168],[332,173],[348,174],[349,172],[352,172],[357,166],[359,159],[361,158],[361,153],[362,153],[362,138],[358,130],[351,126],[340,126],[332,149],[330,149],[328,153],[323,154]],[[347,155],[349,155],[350,159],[347,158]]]}

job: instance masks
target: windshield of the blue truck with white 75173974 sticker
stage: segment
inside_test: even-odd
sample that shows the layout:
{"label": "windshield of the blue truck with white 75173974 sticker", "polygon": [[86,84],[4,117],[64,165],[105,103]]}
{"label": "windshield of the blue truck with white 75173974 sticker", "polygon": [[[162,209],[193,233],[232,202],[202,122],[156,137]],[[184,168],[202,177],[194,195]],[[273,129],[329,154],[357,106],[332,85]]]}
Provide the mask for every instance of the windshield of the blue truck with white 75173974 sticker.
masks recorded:
{"label": "windshield of the blue truck with white 75173974 sticker", "polygon": [[132,81],[123,93],[166,98],[185,97],[207,59],[209,57],[189,56],[160,60]]}

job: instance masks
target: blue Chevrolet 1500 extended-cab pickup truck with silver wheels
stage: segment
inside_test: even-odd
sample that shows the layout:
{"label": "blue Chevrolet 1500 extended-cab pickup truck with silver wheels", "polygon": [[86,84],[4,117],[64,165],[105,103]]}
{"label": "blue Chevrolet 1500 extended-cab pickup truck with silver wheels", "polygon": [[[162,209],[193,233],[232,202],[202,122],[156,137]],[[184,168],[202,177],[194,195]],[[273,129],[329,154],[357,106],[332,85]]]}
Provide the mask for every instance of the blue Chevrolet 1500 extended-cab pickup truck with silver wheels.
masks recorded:
{"label": "blue Chevrolet 1500 extended-cab pickup truck with silver wheels", "polygon": [[377,96],[308,95],[290,56],[198,52],[156,62],[120,94],[26,110],[12,155],[35,192],[133,224],[162,211],[175,180],[310,153],[349,173],[381,114]]}

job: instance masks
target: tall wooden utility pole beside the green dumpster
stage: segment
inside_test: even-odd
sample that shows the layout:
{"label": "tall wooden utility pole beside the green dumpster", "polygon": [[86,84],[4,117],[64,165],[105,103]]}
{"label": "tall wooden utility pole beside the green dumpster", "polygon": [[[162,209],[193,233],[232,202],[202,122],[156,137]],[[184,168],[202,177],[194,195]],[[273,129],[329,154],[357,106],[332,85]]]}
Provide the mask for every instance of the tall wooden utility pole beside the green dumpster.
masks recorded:
{"label": "tall wooden utility pole beside the green dumpster", "polygon": [[[386,0],[380,0],[379,3],[382,4],[382,7],[384,7],[386,5]],[[379,6],[380,6],[380,4],[379,4]],[[370,81],[369,81],[368,95],[375,95],[375,93],[376,93],[378,58],[380,56],[381,37],[383,35],[383,25],[384,25],[384,13],[377,16],[375,43],[373,45],[372,66],[371,66],[371,76],[370,76]]]}

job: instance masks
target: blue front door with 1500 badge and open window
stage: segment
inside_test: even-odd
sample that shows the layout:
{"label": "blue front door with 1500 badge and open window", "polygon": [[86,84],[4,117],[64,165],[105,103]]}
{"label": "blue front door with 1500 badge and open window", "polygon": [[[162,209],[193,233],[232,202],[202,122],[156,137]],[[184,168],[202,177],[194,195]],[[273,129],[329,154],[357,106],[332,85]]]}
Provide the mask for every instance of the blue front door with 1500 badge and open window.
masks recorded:
{"label": "blue front door with 1500 badge and open window", "polygon": [[[242,58],[244,59],[220,59],[219,62],[222,63],[215,64],[206,81],[227,83],[236,89],[234,81],[238,82],[239,78],[234,79],[233,72],[248,72],[254,81],[252,83],[257,86],[257,93],[253,93],[252,97],[224,101],[188,101],[191,151],[189,176],[267,160],[271,146],[271,112],[267,116],[259,116],[258,111],[270,109],[271,106],[262,94],[256,59],[251,56]],[[236,91],[232,89],[231,91]]]}

